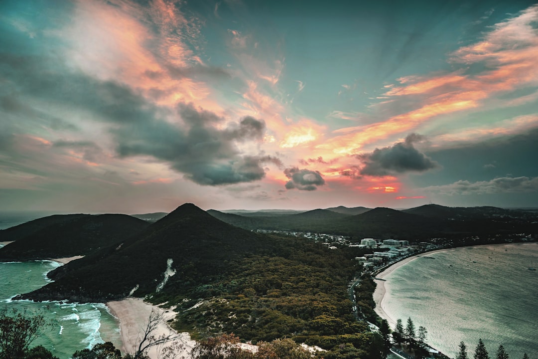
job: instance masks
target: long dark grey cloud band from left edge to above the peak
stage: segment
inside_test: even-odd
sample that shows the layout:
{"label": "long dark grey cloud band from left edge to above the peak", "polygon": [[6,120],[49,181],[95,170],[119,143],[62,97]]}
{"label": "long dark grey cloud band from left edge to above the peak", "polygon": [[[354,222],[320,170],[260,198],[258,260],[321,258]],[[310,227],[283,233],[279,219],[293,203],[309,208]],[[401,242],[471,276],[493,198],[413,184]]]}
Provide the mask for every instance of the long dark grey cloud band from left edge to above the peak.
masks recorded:
{"label": "long dark grey cloud band from left edge to above the peak", "polygon": [[[38,64],[40,77],[26,76]],[[266,164],[282,165],[278,158],[263,153],[246,156],[239,152],[236,143],[263,138],[266,127],[259,119],[247,116],[223,126],[223,118],[192,104],[161,108],[116,82],[58,71],[52,61],[43,59],[0,57],[0,66],[8,69],[4,73],[26,96],[39,97],[51,105],[61,103],[108,124],[119,157],[151,156],[201,185],[256,181],[265,177]],[[24,102],[22,98],[17,101]],[[0,138],[0,142],[8,143],[8,139]],[[78,147],[88,160],[98,149],[89,142],[55,145]]]}

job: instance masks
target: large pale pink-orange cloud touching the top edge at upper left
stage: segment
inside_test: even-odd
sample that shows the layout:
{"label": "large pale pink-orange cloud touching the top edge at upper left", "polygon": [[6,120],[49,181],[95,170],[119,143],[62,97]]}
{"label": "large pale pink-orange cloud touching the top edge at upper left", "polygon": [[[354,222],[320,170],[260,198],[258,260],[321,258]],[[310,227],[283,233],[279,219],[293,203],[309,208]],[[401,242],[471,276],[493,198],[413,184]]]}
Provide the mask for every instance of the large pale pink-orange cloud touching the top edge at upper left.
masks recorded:
{"label": "large pale pink-orange cloud touching the top edge at upper left", "polygon": [[[157,31],[145,25],[147,17]],[[178,33],[188,26],[195,35],[195,25],[195,19],[188,22],[172,3],[161,0],[152,2],[150,9],[120,1],[109,5],[88,0],[76,3],[75,16],[62,35],[70,44],[68,58],[91,76],[123,83],[160,105],[196,102],[222,112],[209,100],[212,90],[206,83],[169,73],[169,66],[200,65],[200,58]],[[149,43],[154,44],[151,49]]]}

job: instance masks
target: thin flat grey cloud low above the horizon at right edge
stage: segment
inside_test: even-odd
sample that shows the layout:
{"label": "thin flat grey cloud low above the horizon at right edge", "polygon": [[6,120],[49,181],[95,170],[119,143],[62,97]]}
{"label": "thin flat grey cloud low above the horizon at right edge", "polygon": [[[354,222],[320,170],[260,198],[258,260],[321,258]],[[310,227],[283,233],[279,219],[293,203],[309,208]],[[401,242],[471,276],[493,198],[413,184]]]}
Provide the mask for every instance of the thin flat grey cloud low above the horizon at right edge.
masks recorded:
{"label": "thin flat grey cloud low above the horizon at right edge", "polygon": [[449,185],[429,186],[423,189],[445,195],[537,192],[538,177],[500,177],[477,182],[459,180]]}

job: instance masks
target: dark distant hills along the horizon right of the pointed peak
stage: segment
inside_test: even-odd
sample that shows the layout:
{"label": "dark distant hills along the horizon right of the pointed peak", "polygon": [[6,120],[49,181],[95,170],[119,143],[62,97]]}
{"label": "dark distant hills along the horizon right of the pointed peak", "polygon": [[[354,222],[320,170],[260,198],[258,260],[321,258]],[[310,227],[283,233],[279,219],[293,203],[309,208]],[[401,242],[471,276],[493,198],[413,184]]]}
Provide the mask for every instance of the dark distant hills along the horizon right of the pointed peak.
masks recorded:
{"label": "dark distant hills along the horizon right of the pointed peak", "polygon": [[429,237],[509,234],[536,231],[537,212],[497,207],[425,205],[405,210],[334,207],[303,213],[244,216],[208,210],[221,221],[244,229],[328,233],[353,238],[424,240]]}

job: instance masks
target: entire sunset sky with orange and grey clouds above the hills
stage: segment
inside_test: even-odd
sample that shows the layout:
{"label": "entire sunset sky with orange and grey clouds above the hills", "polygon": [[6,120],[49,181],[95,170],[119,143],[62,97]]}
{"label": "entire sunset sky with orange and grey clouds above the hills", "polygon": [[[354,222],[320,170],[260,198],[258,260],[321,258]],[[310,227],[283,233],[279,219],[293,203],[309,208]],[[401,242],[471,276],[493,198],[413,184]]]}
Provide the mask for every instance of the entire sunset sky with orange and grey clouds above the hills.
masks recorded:
{"label": "entire sunset sky with orange and grey clouds above the hills", "polygon": [[0,2],[0,207],[538,207],[533,1]]}

